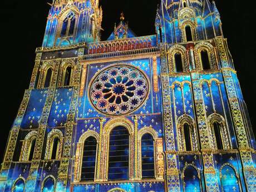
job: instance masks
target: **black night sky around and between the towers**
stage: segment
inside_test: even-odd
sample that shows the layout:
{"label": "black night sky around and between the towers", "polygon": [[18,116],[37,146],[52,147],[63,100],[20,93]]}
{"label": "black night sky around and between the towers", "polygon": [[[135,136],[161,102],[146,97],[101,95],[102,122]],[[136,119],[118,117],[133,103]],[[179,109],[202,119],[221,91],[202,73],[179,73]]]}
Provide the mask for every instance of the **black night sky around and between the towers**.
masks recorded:
{"label": "black night sky around and between the towers", "polygon": [[[124,11],[126,21],[138,36],[154,34],[156,7],[160,0],[101,0],[104,17],[102,40],[106,40]],[[32,3],[34,2],[34,3]],[[4,0],[0,8],[1,22],[1,144],[0,161],[13,120],[28,88],[35,50],[40,47],[45,33],[48,1]],[[252,125],[256,126],[256,45],[254,1],[216,0],[221,14],[224,36],[228,38],[230,52]],[[256,129],[254,129],[256,132]]]}

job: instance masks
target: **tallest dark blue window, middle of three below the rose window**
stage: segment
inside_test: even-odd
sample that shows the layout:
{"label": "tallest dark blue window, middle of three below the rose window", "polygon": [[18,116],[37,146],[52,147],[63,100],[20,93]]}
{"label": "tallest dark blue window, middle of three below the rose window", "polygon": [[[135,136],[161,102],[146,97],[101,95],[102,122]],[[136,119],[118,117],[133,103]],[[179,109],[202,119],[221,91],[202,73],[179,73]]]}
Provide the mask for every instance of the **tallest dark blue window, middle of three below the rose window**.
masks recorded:
{"label": "tallest dark blue window, middle of three below the rose window", "polygon": [[110,132],[109,180],[129,179],[129,132],[117,126]]}

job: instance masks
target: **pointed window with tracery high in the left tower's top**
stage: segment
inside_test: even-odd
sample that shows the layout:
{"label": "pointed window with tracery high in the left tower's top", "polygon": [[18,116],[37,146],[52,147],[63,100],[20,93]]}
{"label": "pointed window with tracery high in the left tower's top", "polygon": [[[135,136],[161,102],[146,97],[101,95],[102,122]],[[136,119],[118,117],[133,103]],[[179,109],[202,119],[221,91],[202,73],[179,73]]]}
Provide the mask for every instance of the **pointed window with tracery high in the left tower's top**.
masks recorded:
{"label": "pointed window with tracery high in the left tower's top", "polygon": [[75,31],[76,16],[75,13],[68,13],[67,17],[63,20],[61,28],[61,37],[72,36]]}

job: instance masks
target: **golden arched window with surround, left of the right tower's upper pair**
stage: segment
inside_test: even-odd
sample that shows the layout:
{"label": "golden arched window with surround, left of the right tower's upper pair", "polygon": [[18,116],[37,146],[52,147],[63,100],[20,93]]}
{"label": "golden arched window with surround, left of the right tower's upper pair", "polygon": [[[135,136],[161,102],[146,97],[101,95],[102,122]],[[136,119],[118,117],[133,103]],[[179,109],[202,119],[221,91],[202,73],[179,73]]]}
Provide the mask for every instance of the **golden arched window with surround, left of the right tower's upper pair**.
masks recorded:
{"label": "golden arched window with surround, left of the right tower's upper pair", "polygon": [[[181,71],[178,71],[178,61],[175,58],[175,55],[180,55],[179,68]],[[188,72],[188,60],[186,57],[186,49],[181,45],[174,45],[169,49],[169,69],[171,72]]]}

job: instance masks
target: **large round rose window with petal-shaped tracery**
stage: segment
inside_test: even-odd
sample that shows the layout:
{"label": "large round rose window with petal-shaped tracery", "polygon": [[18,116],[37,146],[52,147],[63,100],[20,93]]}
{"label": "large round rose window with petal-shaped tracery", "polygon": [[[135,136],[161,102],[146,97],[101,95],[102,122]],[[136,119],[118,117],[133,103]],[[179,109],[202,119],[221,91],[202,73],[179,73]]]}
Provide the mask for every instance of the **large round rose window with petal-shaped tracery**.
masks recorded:
{"label": "large round rose window with petal-shaped tracery", "polygon": [[124,115],[137,110],[149,94],[149,80],[130,65],[106,67],[92,78],[89,98],[96,110],[107,115]]}

